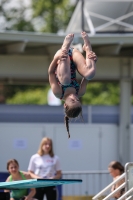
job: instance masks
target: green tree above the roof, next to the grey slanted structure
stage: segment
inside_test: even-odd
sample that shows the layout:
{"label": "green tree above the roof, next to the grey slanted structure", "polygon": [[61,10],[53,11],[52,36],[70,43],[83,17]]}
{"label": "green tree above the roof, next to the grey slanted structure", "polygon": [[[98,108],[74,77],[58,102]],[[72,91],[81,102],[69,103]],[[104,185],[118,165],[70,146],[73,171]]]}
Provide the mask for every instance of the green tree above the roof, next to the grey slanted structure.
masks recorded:
{"label": "green tree above the roof, next to the grey slanted structure", "polygon": [[44,20],[40,30],[57,33],[65,30],[72,16],[75,5],[70,0],[32,0],[33,17]]}

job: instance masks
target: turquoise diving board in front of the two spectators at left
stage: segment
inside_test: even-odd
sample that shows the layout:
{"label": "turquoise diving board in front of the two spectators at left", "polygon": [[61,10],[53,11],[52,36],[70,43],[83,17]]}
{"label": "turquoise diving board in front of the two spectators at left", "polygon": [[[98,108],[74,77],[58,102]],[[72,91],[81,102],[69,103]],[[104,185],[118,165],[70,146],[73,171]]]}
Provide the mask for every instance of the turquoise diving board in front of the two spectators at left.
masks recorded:
{"label": "turquoise diving board in front of the two spectators at left", "polygon": [[81,179],[29,179],[12,182],[0,182],[0,189],[14,190],[25,188],[40,188],[81,182]]}

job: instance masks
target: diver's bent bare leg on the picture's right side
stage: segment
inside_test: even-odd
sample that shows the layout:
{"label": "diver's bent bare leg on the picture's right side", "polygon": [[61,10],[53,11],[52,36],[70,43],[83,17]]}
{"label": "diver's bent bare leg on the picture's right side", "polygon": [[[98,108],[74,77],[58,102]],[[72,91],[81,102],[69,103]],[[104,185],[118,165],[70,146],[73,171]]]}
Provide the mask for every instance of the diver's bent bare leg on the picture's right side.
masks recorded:
{"label": "diver's bent bare leg on the picture's right side", "polygon": [[74,60],[76,60],[77,70],[85,79],[90,80],[95,75],[95,68],[96,68],[96,60],[97,56],[92,51],[91,44],[89,41],[89,37],[86,32],[81,33],[82,38],[84,40],[83,50],[86,52],[86,59],[82,56],[78,56],[78,54],[73,53],[73,57],[75,56]]}

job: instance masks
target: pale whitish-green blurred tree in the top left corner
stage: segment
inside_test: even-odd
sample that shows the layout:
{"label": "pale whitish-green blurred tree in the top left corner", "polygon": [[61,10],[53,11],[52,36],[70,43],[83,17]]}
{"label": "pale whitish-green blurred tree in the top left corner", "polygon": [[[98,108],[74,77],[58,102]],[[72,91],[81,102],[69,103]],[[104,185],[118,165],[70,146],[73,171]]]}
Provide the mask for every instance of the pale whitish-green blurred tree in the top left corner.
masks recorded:
{"label": "pale whitish-green blurred tree in the top left corner", "polygon": [[[13,4],[13,5],[12,5]],[[34,31],[30,18],[27,18],[23,0],[16,5],[12,0],[1,0],[0,20],[3,30]]]}

